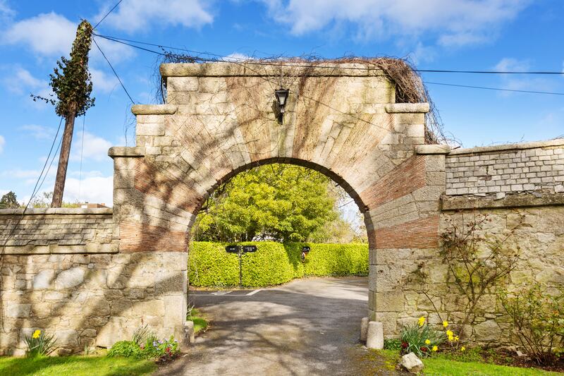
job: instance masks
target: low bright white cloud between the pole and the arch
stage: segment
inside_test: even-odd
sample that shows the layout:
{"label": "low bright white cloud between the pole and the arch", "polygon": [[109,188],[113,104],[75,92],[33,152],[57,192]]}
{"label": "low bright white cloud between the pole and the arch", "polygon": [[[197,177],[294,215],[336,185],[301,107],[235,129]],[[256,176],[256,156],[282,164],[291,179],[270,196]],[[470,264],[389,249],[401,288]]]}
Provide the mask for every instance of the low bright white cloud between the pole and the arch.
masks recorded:
{"label": "low bright white cloud between the pole and the arch", "polygon": [[92,176],[82,178],[82,181],[79,181],[78,178],[67,177],[64,200],[68,202],[96,202],[112,206],[114,204],[114,177]]}

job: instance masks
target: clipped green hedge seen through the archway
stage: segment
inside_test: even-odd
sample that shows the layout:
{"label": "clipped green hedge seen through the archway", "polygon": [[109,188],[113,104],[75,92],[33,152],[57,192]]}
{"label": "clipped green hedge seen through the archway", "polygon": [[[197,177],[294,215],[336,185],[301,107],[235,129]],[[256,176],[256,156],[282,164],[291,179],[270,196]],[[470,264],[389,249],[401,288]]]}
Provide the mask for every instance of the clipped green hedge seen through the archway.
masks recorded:
{"label": "clipped green hedge seen through the archway", "polygon": [[[305,276],[348,276],[368,274],[367,244],[242,243],[257,245],[257,252],[243,254],[243,286],[283,284]],[[192,286],[237,286],[239,260],[227,253],[226,243],[194,242],[188,257]],[[300,261],[302,246],[311,251]]]}

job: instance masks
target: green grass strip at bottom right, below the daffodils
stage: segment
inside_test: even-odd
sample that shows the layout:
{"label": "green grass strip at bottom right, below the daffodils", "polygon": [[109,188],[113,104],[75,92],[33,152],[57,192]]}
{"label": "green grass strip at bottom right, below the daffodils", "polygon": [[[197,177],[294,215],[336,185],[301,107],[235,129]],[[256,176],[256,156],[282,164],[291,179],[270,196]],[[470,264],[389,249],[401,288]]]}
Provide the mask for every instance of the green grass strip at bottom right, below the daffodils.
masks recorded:
{"label": "green grass strip at bottom right, below the daffodils", "polygon": [[[399,355],[397,351],[381,350],[379,353],[388,358],[390,363],[397,364]],[[477,361],[461,362],[451,360],[446,356],[424,358],[423,375],[452,375],[452,376],[536,376],[536,375],[562,375],[558,372],[548,372],[536,368],[508,367]]]}

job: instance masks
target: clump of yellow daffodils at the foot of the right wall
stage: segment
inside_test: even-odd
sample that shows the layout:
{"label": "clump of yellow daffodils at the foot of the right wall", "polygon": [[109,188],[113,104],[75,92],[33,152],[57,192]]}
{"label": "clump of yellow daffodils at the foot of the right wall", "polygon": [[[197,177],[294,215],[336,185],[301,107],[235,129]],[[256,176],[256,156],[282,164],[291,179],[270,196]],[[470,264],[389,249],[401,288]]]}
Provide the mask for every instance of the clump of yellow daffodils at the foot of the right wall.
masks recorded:
{"label": "clump of yellow daffodils at the foot of the right wall", "polygon": [[437,351],[439,345],[445,341],[445,334],[432,329],[425,322],[425,318],[419,318],[419,322],[408,325],[402,329],[401,341],[405,353],[415,353],[419,358],[429,356],[431,352]]}

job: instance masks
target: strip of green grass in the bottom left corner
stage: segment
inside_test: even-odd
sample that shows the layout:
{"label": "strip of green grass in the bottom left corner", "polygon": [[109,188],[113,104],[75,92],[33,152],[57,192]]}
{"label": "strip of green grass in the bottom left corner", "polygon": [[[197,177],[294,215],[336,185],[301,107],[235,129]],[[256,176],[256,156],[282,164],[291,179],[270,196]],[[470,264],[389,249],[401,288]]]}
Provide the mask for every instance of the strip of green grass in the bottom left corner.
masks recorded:
{"label": "strip of green grass in the bottom left corner", "polygon": [[157,370],[151,360],[106,356],[0,357],[0,375],[10,376],[136,376]]}

